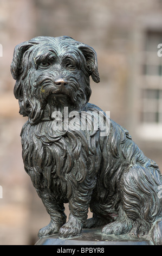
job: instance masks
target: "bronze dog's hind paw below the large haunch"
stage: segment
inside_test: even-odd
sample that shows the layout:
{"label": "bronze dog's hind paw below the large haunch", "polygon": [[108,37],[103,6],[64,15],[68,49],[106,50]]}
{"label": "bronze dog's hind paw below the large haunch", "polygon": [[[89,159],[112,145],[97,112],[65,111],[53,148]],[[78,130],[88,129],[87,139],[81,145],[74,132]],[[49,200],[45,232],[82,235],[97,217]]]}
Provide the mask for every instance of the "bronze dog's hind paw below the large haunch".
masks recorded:
{"label": "bronze dog's hind paw below the large haunch", "polygon": [[102,229],[102,233],[107,235],[121,235],[126,234],[132,229],[132,222],[125,220],[125,221],[114,221],[105,225]]}

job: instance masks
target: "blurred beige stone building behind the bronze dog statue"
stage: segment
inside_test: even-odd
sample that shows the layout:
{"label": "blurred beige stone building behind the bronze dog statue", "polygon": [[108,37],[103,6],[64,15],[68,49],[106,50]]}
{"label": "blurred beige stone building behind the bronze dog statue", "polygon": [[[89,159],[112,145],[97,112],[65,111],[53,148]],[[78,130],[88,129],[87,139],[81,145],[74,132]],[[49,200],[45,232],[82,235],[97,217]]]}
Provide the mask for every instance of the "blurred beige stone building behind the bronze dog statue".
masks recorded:
{"label": "blurred beige stone building behind the bronze dog statue", "polygon": [[13,95],[14,47],[37,35],[68,35],[94,47],[101,82],[92,81],[90,102],[110,111],[162,170],[162,1],[0,0],[0,7],[0,245],[29,245],[49,216],[23,169],[26,119]]}

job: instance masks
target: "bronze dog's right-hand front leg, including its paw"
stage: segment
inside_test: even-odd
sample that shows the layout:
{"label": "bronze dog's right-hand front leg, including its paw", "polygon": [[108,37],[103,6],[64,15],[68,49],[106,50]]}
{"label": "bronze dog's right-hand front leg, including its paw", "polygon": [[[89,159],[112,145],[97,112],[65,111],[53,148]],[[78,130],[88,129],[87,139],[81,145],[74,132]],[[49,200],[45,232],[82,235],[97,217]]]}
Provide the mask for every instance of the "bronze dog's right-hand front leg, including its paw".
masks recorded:
{"label": "bronze dog's right-hand front leg, including its paw", "polygon": [[88,189],[85,183],[75,188],[73,196],[69,199],[69,220],[60,228],[60,237],[77,236],[82,231],[82,228],[85,227],[92,192],[92,187]]}

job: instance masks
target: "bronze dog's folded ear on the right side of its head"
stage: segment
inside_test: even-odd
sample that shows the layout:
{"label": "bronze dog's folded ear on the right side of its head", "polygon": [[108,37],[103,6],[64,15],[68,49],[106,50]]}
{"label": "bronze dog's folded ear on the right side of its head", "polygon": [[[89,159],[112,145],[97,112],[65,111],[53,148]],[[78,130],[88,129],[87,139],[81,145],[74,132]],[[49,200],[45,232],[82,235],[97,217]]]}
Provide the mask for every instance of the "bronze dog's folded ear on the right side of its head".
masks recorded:
{"label": "bronze dog's folded ear on the right side of its head", "polygon": [[99,83],[98,59],[95,50],[88,45],[81,45],[78,48],[86,58],[89,75],[92,76],[94,82]]}

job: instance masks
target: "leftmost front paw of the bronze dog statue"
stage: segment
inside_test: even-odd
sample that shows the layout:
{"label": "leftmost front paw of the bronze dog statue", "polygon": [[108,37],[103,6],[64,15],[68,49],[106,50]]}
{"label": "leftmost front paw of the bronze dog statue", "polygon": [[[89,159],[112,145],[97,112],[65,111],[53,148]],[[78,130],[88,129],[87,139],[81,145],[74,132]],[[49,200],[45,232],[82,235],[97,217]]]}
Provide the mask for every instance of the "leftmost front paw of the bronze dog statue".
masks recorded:
{"label": "leftmost front paw of the bronze dog statue", "polygon": [[42,238],[44,236],[52,235],[55,233],[59,233],[60,226],[58,226],[54,222],[50,222],[46,227],[43,227],[38,232],[38,237]]}

